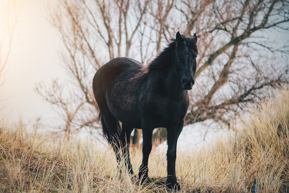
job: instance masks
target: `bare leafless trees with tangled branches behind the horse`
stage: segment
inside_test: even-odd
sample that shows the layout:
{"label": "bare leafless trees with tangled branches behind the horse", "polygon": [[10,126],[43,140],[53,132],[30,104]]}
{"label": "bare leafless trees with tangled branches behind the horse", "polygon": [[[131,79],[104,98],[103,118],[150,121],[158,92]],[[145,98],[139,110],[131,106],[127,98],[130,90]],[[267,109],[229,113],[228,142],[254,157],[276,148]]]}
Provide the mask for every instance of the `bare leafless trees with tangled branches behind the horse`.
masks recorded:
{"label": "bare leafless trees with tangled branches behind the horse", "polygon": [[177,31],[196,32],[199,59],[186,124],[230,124],[265,88],[288,81],[288,42],[274,39],[274,32],[288,34],[288,10],[288,1],[277,0],[61,0],[51,8],[51,23],[62,37],[70,79],[36,90],[62,113],[66,133],[97,128],[91,81],[101,65],[119,56],[146,64]]}

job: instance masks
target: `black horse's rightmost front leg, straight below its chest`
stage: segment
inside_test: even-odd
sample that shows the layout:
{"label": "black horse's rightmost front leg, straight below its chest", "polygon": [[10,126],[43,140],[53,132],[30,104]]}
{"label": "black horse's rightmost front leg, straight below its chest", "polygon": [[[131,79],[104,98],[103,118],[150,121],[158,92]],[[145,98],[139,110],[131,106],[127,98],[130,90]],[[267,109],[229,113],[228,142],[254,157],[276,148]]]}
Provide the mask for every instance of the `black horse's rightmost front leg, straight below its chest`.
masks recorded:
{"label": "black horse's rightmost front leg, straight below its chest", "polygon": [[167,177],[167,187],[173,190],[180,190],[180,185],[177,183],[176,177],[176,157],[177,157],[177,139],[183,129],[184,121],[176,126],[171,126],[167,128],[167,161],[168,161],[168,177]]}

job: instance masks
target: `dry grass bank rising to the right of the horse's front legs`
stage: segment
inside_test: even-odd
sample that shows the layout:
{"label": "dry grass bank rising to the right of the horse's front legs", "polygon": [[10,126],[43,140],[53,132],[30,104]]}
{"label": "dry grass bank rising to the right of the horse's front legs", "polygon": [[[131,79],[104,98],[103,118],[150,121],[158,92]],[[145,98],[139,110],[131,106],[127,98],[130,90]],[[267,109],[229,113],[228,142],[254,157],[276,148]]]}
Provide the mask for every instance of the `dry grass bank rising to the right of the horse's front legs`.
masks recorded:
{"label": "dry grass bank rising to the right of the horse's front legs", "polygon": [[289,90],[237,118],[209,149],[179,152],[177,176],[186,192],[289,192]]}

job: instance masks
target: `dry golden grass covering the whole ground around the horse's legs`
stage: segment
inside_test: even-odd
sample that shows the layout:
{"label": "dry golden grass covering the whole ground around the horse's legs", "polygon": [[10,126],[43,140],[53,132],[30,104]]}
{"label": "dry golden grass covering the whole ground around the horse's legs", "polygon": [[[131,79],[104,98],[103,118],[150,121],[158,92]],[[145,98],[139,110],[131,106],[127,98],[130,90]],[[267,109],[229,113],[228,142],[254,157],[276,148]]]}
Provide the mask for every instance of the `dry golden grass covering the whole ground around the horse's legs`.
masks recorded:
{"label": "dry golden grass covering the whole ground around the horse's legs", "polygon": [[[0,192],[168,192],[165,152],[151,152],[153,183],[142,186],[128,174],[119,179],[113,152],[89,140],[27,136],[21,124],[10,130],[2,121]],[[257,192],[289,192],[289,90],[276,91],[231,130],[209,150],[178,152],[181,192],[254,192],[254,179]],[[142,153],[135,148],[131,157],[137,173]]]}

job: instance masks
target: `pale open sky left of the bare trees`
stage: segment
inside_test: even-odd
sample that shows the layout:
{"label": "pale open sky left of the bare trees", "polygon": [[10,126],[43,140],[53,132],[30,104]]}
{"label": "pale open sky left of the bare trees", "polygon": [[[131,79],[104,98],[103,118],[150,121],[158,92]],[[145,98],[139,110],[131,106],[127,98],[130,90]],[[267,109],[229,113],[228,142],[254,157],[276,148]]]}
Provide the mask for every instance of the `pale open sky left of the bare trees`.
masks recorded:
{"label": "pale open sky left of the bare trees", "polygon": [[[7,15],[5,5],[8,1],[0,0],[0,28],[1,16]],[[58,57],[61,41],[58,32],[49,23],[48,1],[16,0],[18,8],[22,8],[17,13],[5,82],[0,87],[0,120],[9,115],[9,120],[18,122],[22,117],[25,123],[29,123],[37,117],[48,121],[57,116],[34,91],[38,82],[49,83],[52,78],[64,74]]]}

